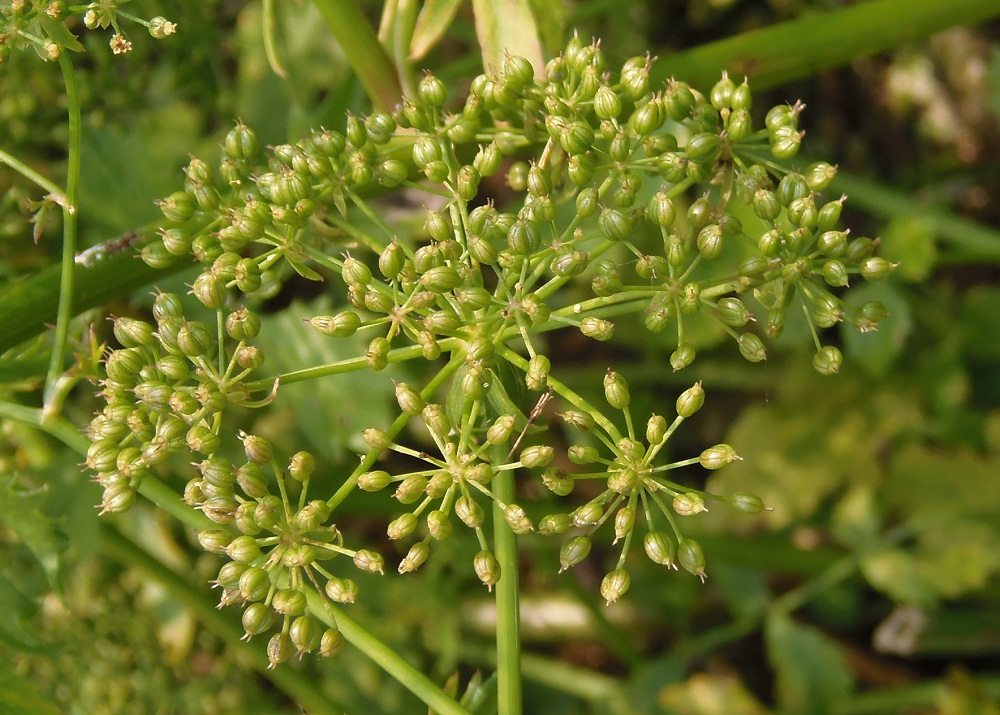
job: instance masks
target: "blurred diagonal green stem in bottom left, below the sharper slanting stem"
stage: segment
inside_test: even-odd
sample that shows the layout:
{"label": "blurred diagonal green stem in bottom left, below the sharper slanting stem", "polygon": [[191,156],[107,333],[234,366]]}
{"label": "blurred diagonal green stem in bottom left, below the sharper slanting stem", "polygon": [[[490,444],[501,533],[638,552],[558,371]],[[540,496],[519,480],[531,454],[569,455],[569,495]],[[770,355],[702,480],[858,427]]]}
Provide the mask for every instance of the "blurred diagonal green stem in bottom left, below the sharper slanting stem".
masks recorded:
{"label": "blurred diagonal green stem in bottom left, below the sharper slanting stem", "polygon": [[262,644],[241,641],[243,628],[229,612],[219,611],[206,601],[200,589],[189,584],[175,571],[107,524],[100,524],[100,533],[101,551],[106,556],[152,577],[159,586],[190,608],[208,630],[239,654],[242,661],[249,663],[254,670],[274,683],[275,687],[288,695],[304,711],[316,715],[343,712],[343,708],[329,701],[304,673],[287,666],[268,668],[267,652]]}

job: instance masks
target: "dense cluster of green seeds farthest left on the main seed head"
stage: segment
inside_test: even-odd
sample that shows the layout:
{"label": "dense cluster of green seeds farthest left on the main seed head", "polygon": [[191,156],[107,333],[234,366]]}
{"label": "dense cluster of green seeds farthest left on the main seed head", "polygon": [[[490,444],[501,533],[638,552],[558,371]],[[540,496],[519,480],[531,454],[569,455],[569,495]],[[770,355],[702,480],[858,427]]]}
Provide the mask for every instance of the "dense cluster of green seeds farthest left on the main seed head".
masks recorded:
{"label": "dense cluster of green seeds farthest left on the main seed head", "polygon": [[[264,363],[248,341],[260,318],[238,308],[219,324],[187,320],[181,299],[159,293],[154,327],[135,318],[114,321],[121,349],[108,353],[100,396],[106,406],[87,427],[92,443],[86,466],[104,487],[103,512],[128,509],[142,478],[174,453],[210,456],[221,444],[223,413],[229,404],[255,407],[273,398],[254,396],[246,378]],[[276,388],[276,385],[274,385]],[[229,504],[209,502],[206,513]]]}

